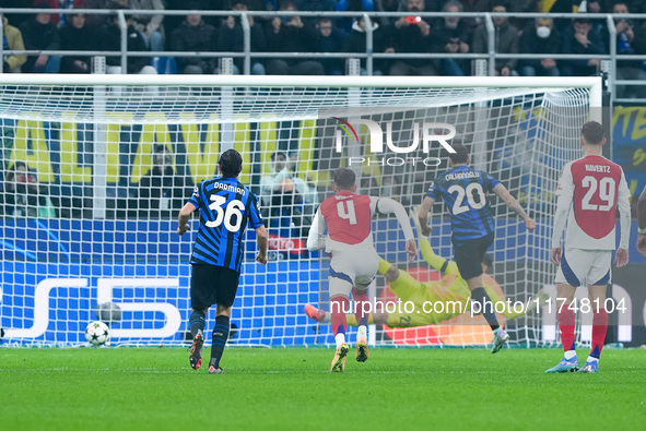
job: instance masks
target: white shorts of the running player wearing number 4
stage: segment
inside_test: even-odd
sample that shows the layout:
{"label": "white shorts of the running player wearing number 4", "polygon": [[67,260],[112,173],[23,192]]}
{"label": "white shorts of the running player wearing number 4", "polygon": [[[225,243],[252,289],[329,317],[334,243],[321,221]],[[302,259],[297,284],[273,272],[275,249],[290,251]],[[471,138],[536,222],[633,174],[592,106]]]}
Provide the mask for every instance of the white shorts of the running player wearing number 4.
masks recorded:
{"label": "white shorts of the running player wearing number 4", "polygon": [[367,289],[378,268],[379,256],[374,249],[336,251],[330,262],[330,298],[350,296],[353,286],[360,290]]}

